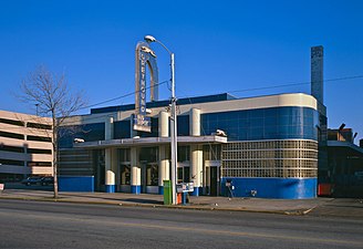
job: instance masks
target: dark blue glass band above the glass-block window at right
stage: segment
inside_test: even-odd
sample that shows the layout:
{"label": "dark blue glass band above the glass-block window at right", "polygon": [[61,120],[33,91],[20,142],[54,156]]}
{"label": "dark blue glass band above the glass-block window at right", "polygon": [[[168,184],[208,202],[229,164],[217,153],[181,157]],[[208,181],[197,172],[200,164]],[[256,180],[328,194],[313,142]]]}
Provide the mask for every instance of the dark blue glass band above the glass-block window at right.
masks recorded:
{"label": "dark blue glass band above the glass-block window at right", "polygon": [[228,141],[318,139],[318,112],[308,107],[287,106],[243,110],[200,115],[201,134],[224,129]]}

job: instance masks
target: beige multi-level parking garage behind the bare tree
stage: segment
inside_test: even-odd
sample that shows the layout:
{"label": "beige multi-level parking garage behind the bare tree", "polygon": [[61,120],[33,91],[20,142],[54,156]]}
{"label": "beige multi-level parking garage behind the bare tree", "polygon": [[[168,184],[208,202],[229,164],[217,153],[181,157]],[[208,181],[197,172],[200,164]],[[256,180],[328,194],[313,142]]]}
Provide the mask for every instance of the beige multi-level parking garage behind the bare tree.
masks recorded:
{"label": "beige multi-level parking garage behind the bare tree", "polygon": [[0,111],[0,178],[53,175],[51,120]]}

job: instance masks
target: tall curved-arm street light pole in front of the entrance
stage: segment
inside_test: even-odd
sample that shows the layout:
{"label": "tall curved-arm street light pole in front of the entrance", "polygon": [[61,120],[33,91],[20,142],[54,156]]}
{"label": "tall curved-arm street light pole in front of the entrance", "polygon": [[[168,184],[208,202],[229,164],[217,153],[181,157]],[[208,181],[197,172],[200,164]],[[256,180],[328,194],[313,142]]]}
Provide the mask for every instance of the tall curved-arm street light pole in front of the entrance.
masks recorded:
{"label": "tall curved-arm street light pole in front of the entrance", "polygon": [[159,43],[170,55],[170,74],[172,74],[172,116],[170,116],[170,147],[172,147],[172,200],[176,205],[176,168],[177,168],[177,117],[176,117],[176,97],[175,97],[175,70],[174,70],[174,53],[170,52],[160,41],[152,35],[146,35],[146,42]]}

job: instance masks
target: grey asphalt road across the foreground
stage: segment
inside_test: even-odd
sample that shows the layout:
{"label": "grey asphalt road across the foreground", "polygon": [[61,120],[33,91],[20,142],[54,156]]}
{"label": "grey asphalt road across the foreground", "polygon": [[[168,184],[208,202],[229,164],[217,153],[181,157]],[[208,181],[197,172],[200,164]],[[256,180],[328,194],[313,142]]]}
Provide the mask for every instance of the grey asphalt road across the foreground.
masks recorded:
{"label": "grey asphalt road across the foreground", "polygon": [[0,248],[363,248],[363,220],[0,199]]}

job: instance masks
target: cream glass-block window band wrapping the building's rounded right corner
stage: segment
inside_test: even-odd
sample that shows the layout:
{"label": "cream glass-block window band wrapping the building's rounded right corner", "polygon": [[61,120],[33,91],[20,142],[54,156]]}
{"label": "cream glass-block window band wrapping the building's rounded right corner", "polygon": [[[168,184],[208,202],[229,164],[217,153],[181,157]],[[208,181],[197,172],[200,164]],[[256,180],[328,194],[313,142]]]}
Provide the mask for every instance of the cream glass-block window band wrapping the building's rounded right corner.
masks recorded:
{"label": "cream glass-block window band wrapping the building's rounded right corner", "polygon": [[222,145],[222,177],[317,177],[318,143],[240,142]]}

